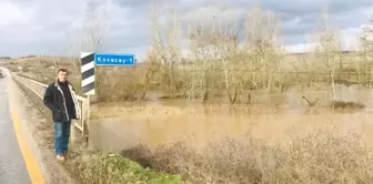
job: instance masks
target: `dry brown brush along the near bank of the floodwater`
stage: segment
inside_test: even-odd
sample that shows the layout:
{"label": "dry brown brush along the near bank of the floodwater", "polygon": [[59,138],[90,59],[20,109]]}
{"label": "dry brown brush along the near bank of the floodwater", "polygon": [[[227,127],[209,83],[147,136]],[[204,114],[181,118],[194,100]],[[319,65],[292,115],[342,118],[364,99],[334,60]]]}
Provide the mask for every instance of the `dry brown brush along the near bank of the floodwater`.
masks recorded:
{"label": "dry brown brush along the near bank of the floodwater", "polygon": [[371,152],[359,134],[320,130],[268,145],[250,135],[225,137],[204,150],[184,142],[123,151],[160,172],[180,173],[190,183],[370,183]]}

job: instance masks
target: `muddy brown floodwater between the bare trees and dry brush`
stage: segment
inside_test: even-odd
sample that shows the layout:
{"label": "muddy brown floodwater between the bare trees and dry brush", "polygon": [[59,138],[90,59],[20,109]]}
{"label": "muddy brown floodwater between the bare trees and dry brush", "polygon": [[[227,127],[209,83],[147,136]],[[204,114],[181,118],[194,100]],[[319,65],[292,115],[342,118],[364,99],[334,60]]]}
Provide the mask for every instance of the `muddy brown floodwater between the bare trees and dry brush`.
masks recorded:
{"label": "muddy brown floodwater between the bare trees and dry brush", "polygon": [[[320,99],[310,109],[302,95]],[[336,125],[341,132],[357,131],[373,145],[373,90],[357,85],[337,85],[336,99],[361,102],[364,110],[335,112],[324,105],[333,99],[329,90],[312,91],[291,89],[280,94],[253,94],[261,105],[230,108],[203,106],[199,102],[154,101],[137,112],[118,110],[120,116],[92,120],[90,144],[97,149],[120,152],[138,143],[154,149],[162,143],[186,139],[191,146],[203,146],[209,140],[224,135],[250,132],[269,143],[284,142],[298,131],[312,131],[325,125]],[[268,105],[272,104],[272,105]],[[273,105],[275,104],[275,105]],[[295,131],[295,132],[294,132]]]}

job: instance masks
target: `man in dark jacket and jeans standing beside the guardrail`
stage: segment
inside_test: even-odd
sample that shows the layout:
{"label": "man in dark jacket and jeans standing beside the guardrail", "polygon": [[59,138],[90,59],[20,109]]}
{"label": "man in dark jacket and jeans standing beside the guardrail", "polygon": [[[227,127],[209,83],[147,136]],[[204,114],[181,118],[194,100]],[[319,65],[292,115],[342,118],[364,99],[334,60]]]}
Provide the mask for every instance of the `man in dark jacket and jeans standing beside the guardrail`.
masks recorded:
{"label": "man in dark jacket and jeans standing beside the guardrail", "polygon": [[52,112],[54,122],[56,157],[63,161],[68,152],[71,120],[80,119],[80,109],[73,88],[68,81],[68,70],[59,69],[57,73],[58,80],[47,88],[43,101]]}

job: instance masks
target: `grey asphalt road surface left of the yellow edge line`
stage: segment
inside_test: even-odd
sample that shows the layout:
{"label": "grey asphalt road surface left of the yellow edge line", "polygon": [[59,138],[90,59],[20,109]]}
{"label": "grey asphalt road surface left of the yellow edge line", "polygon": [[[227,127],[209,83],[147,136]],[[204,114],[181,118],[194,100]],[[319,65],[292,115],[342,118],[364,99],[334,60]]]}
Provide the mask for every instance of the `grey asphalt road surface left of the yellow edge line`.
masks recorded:
{"label": "grey asphalt road surface left of the yellow edge line", "polygon": [[8,79],[0,79],[0,183],[31,183],[9,110]]}

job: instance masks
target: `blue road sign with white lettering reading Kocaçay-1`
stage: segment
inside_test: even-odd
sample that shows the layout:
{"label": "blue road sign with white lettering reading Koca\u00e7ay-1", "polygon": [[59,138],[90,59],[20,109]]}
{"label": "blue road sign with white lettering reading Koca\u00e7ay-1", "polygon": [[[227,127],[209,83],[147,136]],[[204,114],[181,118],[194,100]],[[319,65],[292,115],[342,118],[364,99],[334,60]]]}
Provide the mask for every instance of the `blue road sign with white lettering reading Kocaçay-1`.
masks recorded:
{"label": "blue road sign with white lettering reading Koca\u00e7ay-1", "polygon": [[95,65],[134,67],[134,54],[95,53]]}

